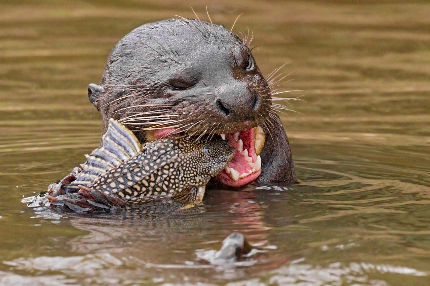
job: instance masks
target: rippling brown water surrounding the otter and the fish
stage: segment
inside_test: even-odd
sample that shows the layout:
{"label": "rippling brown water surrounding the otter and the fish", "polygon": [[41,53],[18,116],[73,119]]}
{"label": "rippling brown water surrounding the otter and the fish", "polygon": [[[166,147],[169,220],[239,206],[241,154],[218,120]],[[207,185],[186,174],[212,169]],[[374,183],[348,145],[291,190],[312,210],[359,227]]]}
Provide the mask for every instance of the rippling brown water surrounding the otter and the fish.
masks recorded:
{"label": "rippling brown water surrounding the otter and the fish", "polygon": [[[120,3],[121,2],[121,3]],[[209,1],[254,32],[264,74],[305,92],[282,116],[292,186],[209,190],[165,218],[59,217],[21,199],[98,146],[86,86],[109,50],[149,21],[203,19],[181,1],[0,4],[0,284],[427,285],[430,281],[430,4]],[[265,252],[212,267],[197,253],[241,231]]]}

